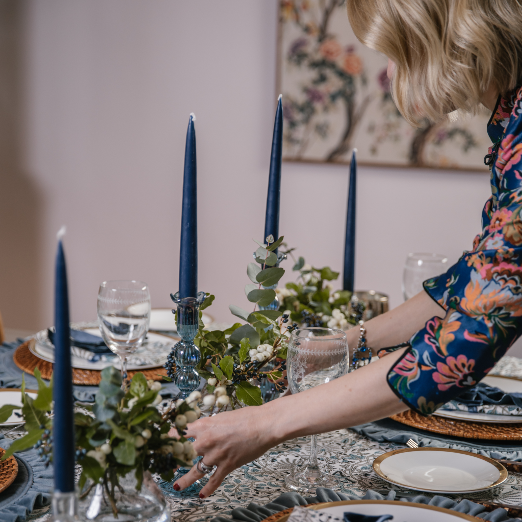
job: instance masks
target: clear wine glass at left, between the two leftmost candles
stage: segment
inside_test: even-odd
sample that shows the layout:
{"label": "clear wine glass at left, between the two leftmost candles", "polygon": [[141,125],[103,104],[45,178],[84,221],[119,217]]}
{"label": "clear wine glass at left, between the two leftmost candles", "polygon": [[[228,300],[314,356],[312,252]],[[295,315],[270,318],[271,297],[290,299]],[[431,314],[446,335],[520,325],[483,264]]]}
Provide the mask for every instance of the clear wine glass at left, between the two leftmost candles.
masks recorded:
{"label": "clear wine glass at left, between the two leftmost candles", "polygon": [[103,281],[98,291],[98,327],[109,349],[121,361],[122,388],[127,357],[143,343],[149,330],[150,294],[141,281]]}

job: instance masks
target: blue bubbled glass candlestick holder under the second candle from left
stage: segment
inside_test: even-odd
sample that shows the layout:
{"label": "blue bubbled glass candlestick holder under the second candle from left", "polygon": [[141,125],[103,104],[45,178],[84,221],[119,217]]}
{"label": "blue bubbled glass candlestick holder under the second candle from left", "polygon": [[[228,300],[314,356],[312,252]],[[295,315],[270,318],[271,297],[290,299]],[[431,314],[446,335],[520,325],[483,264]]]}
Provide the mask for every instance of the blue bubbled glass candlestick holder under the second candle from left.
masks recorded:
{"label": "blue bubbled glass candlestick holder under the second candle from left", "polygon": [[[170,294],[177,305],[176,326],[181,341],[176,342],[167,358],[167,375],[174,381],[180,393],[177,399],[186,399],[199,386],[201,378],[196,366],[201,360],[199,348],[194,344],[199,327],[199,307],[205,301],[205,292],[197,297],[179,297],[179,292]],[[174,313],[174,310],[172,311]]]}

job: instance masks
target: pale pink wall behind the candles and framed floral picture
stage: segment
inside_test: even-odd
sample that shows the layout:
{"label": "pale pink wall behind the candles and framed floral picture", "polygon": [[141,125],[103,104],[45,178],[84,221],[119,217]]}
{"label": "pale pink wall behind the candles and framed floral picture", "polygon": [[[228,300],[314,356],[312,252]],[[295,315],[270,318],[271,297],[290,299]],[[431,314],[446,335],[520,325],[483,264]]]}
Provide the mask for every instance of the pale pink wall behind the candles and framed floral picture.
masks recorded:
{"label": "pale pink wall behind the candles and framed floral picture", "polygon": [[[11,281],[0,295],[6,326],[52,323],[62,224],[73,320],[96,317],[105,279],[145,280],[153,306],[170,306],[190,112],[197,116],[199,288],[217,295],[209,312],[227,321],[230,303],[246,306],[251,238],[263,233],[277,0],[22,5],[17,168],[29,188],[13,197],[33,194],[20,234],[31,232],[38,246],[30,267],[22,270],[16,255],[3,261],[2,277]],[[341,268],[347,180],[339,165],[283,164],[280,230],[315,265]],[[402,302],[407,254],[456,260],[479,232],[490,194],[487,174],[408,169],[360,168],[358,189],[357,287],[388,293],[392,306]],[[13,252],[18,240],[9,241]],[[27,300],[15,300],[20,288]]]}

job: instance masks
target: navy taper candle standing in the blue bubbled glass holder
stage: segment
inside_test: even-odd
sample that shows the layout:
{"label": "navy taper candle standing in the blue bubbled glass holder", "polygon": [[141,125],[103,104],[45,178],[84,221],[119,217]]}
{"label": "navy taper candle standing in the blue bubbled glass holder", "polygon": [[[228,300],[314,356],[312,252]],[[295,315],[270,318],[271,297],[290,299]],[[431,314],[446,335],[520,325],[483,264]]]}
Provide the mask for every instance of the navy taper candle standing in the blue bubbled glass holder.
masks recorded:
{"label": "navy taper candle standing in the blue bubbled glass holder", "polygon": [[183,204],[181,210],[180,298],[197,295],[197,186],[196,132],[191,113],[188,119],[183,170]]}

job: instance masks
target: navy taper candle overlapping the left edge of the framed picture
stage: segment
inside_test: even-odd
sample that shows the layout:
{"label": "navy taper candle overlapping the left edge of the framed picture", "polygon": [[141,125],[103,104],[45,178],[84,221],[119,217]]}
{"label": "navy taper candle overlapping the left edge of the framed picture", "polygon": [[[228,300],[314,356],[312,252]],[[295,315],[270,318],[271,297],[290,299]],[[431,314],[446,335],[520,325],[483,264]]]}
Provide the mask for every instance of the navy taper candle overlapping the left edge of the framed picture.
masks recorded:
{"label": "navy taper candle overlapping the left edge of the framed picture", "polygon": [[270,174],[268,176],[268,196],[266,198],[265,236],[279,238],[279,199],[281,194],[281,157],[283,148],[283,108],[279,94],[274,136],[272,137],[272,152],[270,155]]}

